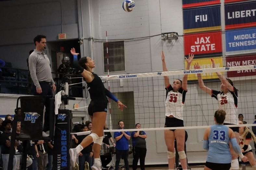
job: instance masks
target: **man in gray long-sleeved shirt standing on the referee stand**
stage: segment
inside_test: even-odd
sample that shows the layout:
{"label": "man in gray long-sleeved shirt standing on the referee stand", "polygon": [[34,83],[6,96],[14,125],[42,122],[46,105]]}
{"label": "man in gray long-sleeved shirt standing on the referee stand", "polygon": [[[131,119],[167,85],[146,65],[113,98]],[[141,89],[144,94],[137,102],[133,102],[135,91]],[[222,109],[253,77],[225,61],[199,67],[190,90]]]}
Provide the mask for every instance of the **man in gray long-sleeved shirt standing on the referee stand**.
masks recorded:
{"label": "man in gray long-sleeved shirt standing on the referee stand", "polygon": [[[31,94],[36,96],[52,96],[56,90],[52,78],[50,60],[43,52],[46,47],[46,36],[34,37],[35,50],[29,56],[29,70],[33,81]],[[44,131],[49,131],[49,101],[45,100],[45,122]]]}

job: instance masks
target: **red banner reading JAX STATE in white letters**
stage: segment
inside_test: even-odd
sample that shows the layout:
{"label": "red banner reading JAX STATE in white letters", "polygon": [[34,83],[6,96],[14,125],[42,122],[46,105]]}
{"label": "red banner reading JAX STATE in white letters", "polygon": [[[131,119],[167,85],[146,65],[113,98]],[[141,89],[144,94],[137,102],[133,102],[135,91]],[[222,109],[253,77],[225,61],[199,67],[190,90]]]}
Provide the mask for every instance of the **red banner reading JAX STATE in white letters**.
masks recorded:
{"label": "red banner reading JAX STATE in white letters", "polygon": [[184,53],[193,53],[195,58],[222,55],[221,31],[184,35]]}

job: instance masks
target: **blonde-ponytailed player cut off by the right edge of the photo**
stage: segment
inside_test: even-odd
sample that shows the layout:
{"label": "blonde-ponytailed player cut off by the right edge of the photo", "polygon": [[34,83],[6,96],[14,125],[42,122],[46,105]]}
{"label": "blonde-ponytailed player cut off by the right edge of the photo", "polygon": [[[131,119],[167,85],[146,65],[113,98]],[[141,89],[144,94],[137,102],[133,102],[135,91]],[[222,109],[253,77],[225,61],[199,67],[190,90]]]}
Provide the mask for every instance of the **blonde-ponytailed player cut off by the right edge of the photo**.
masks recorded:
{"label": "blonde-ponytailed player cut off by the right edge of the photo", "polygon": [[[239,124],[244,124],[242,121],[239,121]],[[256,160],[251,150],[250,141],[256,141],[256,137],[252,131],[248,127],[239,127],[239,135],[240,135],[240,148],[242,150],[243,155],[248,157],[248,161],[250,165],[256,170]]]}

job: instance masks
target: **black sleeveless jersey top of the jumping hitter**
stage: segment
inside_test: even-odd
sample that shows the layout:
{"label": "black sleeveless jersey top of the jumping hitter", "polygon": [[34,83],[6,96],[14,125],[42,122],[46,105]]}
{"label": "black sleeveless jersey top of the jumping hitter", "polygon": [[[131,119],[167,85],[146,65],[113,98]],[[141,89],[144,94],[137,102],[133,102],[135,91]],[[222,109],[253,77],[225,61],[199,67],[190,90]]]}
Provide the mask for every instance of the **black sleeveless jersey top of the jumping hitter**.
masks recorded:
{"label": "black sleeveless jersey top of the jumping hitter", "polygon": [[87,90],[90,93],[90,98],[92,101],[105,101],[106,103],[108,103],[108,99],[106,97],[106,93],[105,93],[105,87],[104,84],[102,82],[102,80],[100,79],[100,77],[93,73],[94,79],[88,83],[87,82]]}

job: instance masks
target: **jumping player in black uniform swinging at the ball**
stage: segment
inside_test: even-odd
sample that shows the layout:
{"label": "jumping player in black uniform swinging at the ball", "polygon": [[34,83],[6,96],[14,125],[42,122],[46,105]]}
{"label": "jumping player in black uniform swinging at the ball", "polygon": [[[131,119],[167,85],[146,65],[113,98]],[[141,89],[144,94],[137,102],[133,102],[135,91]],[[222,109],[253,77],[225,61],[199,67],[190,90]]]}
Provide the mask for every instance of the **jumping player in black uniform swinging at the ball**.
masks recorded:
{"label": "jumping player in black uniform swinging at the ball", "polygon": [[87,89],[91,98],[91,102],[88,107],[88,113],[93,124],[92,133],[86,136],[76,148],[69,150],[70,163],[72,167],[75,167],[79,152],[81,152],[84,147],[94,142],[94,165],[92,166],[92,170],[101,170],[99,153],[103,140],[103,128],[106,122],[108,108],[108,100],[106,96],[108,96],[113,101],[116,101],[118,108],[121,111],[123,111],[123,108],[126,106],[121,101],[119,101],[109,90],[107,90],[98,75],[93,73],[95,63],[90,57],[83,57],[78,61],[77,55],[79,55],[79,53],[76,53],[75,48],[71,48],[70,52],[74,57],[73,65],[78,69],[79,73],[83,76],[87,83]]}

